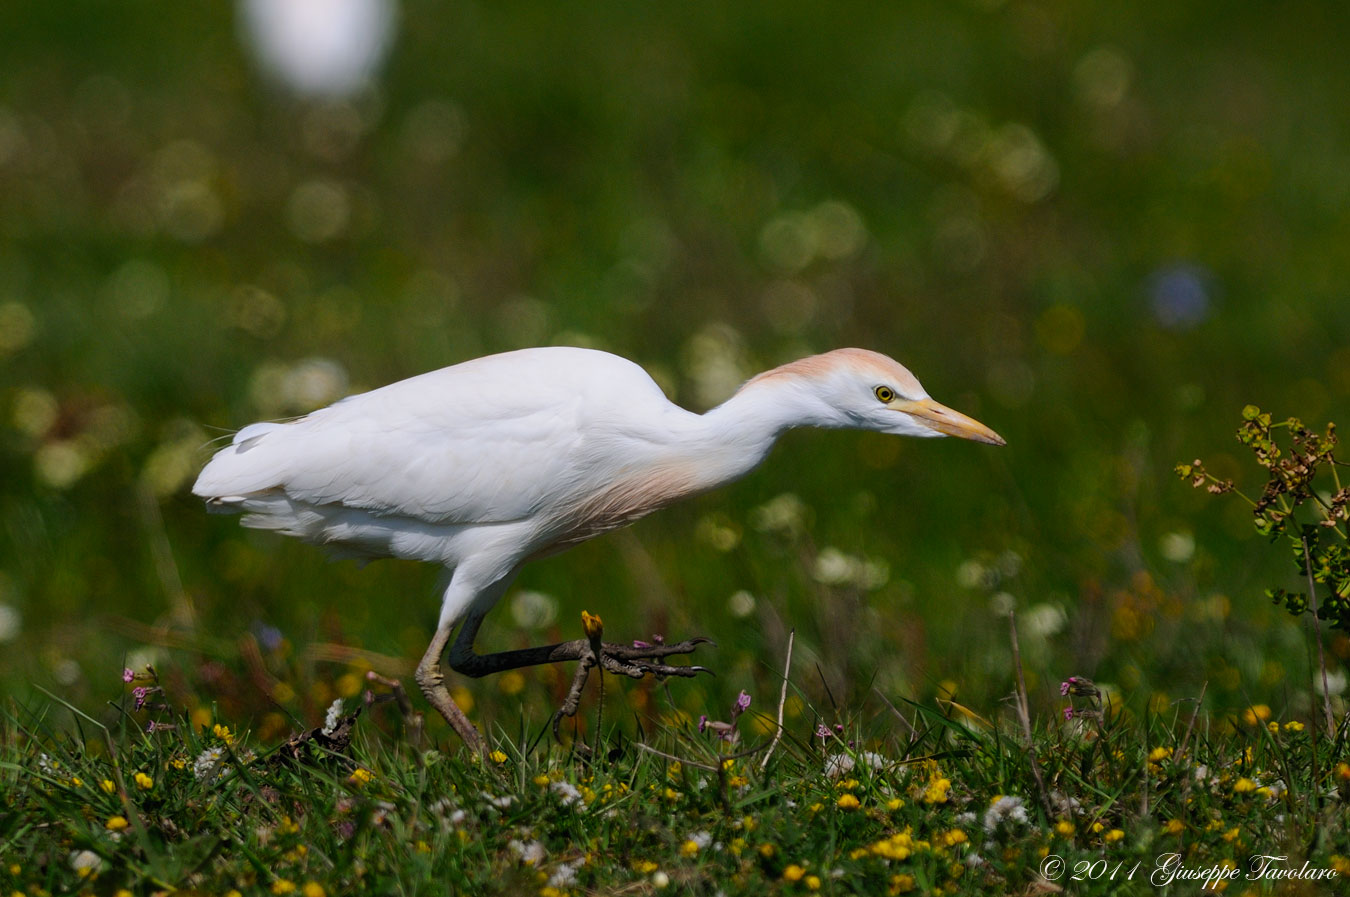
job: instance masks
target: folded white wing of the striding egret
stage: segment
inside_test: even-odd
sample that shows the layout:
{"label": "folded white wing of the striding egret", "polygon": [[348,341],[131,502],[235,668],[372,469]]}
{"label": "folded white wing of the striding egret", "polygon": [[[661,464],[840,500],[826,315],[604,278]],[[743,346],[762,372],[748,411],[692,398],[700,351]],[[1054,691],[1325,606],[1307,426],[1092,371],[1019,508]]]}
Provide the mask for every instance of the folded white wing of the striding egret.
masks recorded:
{"label": "folded white wing of the striding egret", "polygon": [[230,503],[281,490],[435,524],[529,517],[585,486],[597,403],[664,401],[632,362],[586,353],[578,366],[560,351],[478,359],[246,427],[193,492]]}

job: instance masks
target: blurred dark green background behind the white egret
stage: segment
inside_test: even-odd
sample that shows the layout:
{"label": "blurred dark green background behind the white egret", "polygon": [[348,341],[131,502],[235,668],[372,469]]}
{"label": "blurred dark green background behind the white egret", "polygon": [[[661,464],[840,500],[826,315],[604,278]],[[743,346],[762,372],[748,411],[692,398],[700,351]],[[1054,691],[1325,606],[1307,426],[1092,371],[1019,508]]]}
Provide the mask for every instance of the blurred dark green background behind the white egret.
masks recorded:
{"label": "blurred dark green background behind the white egret", "polygon": [[[1262,596],[1285,551],[1172,467],[1256,482],[1246,403],[1350,423],[1335,4],[413,0],[371,84],[324,97],[246,22],[0,5],[4,693],[97,709],[153,661],[274,736],[420,657],[436,570],[188,494],[232,428],[520,346],[616,351],[698,409],[864,346],[1007,448],[791,434],[529,566],[481,648],[582,608],[710,635],[720,678],[670,696],[717,716],[772,705],[795,627],[817,711],[876,686],[990,715],[1015,604],[1042,712],[1069,674],[1307,712],[1307,632]],[[467,686],[510,728],[559,684]]]}

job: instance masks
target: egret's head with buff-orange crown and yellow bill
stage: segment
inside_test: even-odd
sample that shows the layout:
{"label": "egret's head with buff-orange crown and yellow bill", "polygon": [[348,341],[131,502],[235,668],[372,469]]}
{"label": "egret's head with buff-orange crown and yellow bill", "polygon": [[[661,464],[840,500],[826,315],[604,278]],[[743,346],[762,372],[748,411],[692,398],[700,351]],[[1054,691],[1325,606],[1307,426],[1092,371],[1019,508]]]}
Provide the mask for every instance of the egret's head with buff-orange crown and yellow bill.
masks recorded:
{"label": "egret's head with buff-orange crown and yellow bill", "polygon": [[865,349],[837,349],[802,358],[764,371],[745,385],[775,385],[809,400],[815,426],[1007,444],[980,421],[933,401],[905,365]]}

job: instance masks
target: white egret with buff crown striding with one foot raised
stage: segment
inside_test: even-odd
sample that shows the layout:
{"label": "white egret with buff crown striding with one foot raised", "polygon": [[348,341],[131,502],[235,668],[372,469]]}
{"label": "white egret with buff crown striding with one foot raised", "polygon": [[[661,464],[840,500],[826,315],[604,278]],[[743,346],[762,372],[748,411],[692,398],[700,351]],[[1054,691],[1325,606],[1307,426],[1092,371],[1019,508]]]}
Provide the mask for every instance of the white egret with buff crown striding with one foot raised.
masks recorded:
{"label": "white egret with buff crown striding with one foot raised", "polygon": [[672,404],[617,355],[524,349],[348,396],[290,423],[244,427],[192,490],[212,509],[246,512],[247,527],[342,557],[444,565],[440,621],[417,684],[481,748],[440,669],[455,627],[450,666],[471,677],[580,661],[560,713],[575,712],[597,663],[632,677],[693,675],[701,667],[662,661],[703,639],[630,647],[591,634],[490,655],[475,654],[474,639],[524,563],[749,473],[794,427],[1004,444],[929,399],[902,365],[863,349],[768,370],[702,415]]}

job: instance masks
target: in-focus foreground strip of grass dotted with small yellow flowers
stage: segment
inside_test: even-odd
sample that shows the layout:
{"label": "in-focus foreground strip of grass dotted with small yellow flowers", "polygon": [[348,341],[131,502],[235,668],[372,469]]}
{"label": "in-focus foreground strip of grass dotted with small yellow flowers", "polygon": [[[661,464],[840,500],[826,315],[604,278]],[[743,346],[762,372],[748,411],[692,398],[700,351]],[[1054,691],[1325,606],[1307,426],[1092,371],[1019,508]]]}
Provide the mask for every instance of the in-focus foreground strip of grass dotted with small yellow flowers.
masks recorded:
{"label": "in-focus foreground strip of grass dotted with small yellow flowers", "polygon": [[[606,684],[614,713],[629,696]],[[1222,719],[1196,700],[1137,716],[1087,680],[1065,688],[1072,712],[1035,720],[1030,751],[1011,713],[882,700],[876,719],[834,725],[807,707],[772,750],[772,708],[733,715],[732,743],[672,707],[636,738],[605,725],[591,751],[590,705],[571,743],[498,731],[479,758],[425,743],[378,684],[339,700],[331,735],[270,747],[157,692],[138,711],[128,686],[112,727],[59,701],[8,717],[0,882],[559,897],[1195,893],[1184,875],[1328,893],[1350,878],[1345,724],[1332,736],[1265,707]],[[1157,878],[1173,854],[1180,875]],[[1282,859],[1253,867],[1262,855]],[[1289,870],[1304,877],[1276,877]]]}

